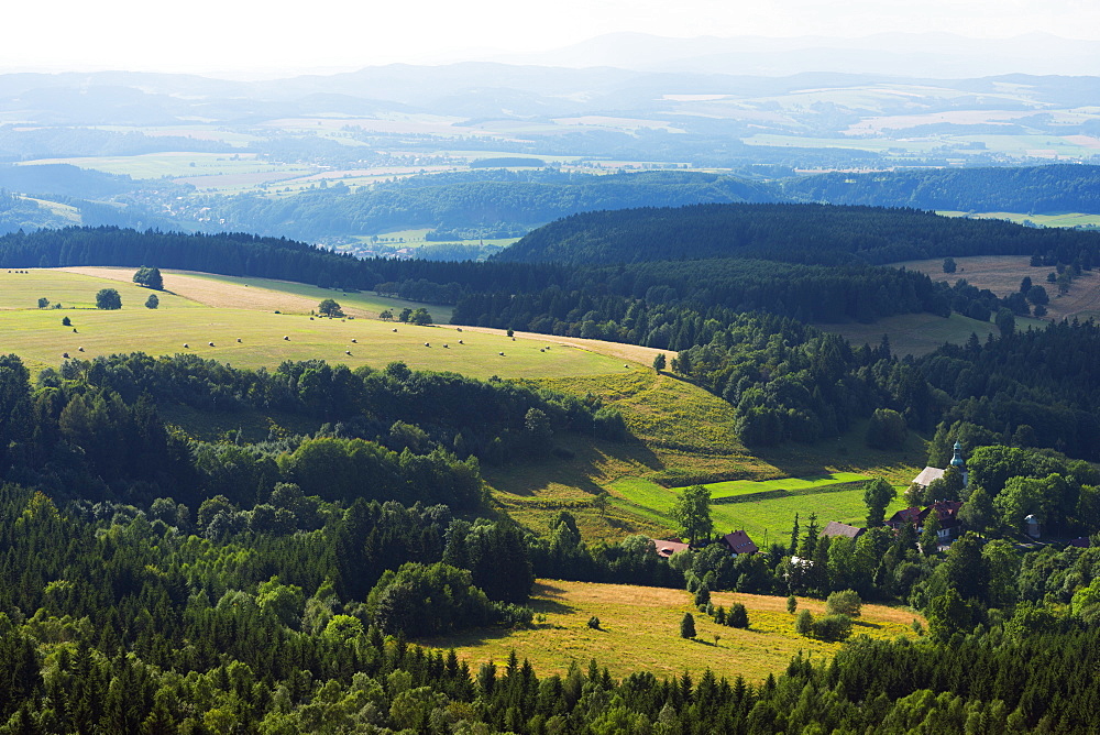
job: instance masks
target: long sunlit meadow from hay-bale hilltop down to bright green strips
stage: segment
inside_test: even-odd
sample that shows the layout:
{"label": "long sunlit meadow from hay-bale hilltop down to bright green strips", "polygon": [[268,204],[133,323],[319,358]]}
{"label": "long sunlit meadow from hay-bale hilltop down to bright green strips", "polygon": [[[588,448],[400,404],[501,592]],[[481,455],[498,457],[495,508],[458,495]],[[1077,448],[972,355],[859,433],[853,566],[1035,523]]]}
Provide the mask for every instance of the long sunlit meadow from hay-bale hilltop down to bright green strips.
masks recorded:
{"label": "long sunlit meadow from hay-bale hilltop down to bright green strips", "polygon": [[[161,305],[153,310],[143,306],[152,292],[131,282],[133,271],[0,272],[0,351],[20,354],[32,374],[56,368],[66,354],[90,359],[132,351],[195,353],[253,369],[274,369],[285,360],[322,359],[352,368],[381,368],[399,360],[418,370],[481,379],[497,375],[573,395],[591,394],[615,406],[632,436],[628,441],[561,435],[556,437],[563,450],[558,456],[483,468],[499,507],[536,531],[546,530],[557,511],[569,509],[588,539],[612,540],[632,533],[667,536],[671,527],[667,513],[674,498],[669,487],[702,482],[716,483],[714,493],[721,501],[750,495],[751,502],[716,503],[716,528],[745,528],[763,542],[765,535],[784,534],[795,512],[802,517],[815,512],[823,524],[859,520],[865,514],[861,490],[845,483],[875,474],[904,486],[924,462],[919,437],[911,437],[901,453],[876,452],[862,447],[865,427],[856,427],[843,446],[831,440],[749,451],[734,430],[734,408],[686,381],[652,371],[647,365],[658,351],[649,348],[522,332],[510,339],[499,330],[472,327],[460,332],[449,326],[400,325],[375,317],[387,308],[419,305],[373,293],[342,294],[198,273],[164,272],[166,290],[157,294]],[[103,287],[119,290],[122,309],[95,308],[95,295]],[[63,308],[38,309],[40,297]],[[311,317],[310,311],[328,297],[337,298],[349,318]],[[450,318],[447,309],[429,310],[437,321]],[[62,325],[64,317],[72,320],[70,327]],[[169,408],[165,415],[205,437],[237,428],[262,435],[268,420],[284,424],[279,417],[258,414],[224,421],[185,409]],[[293,421],[287,426],[297,431],[314,428]],[[603,491],[613,502],[600,512],[593,497]]]}

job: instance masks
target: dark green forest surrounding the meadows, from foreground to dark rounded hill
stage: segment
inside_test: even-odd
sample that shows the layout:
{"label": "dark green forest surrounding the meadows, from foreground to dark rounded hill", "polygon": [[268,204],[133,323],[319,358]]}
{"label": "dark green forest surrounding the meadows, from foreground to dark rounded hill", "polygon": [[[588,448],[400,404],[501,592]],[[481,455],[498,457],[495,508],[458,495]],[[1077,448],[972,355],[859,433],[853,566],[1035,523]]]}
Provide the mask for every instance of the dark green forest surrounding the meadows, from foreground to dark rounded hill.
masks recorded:
{"label": "dark green forest surrounding the meadows, from foreground to dark rounded hill", "polygon": [[[880,514],[858,538],[828,538],[810,515],[759,553],[710,545],[666,560],[640,536],[585,542],[568,509],[537,536],[487,496],[483,467],[544,461],[556,436],[632,441],[591,395],[397,362],[249,371],[134,353],[33,376],[6,355],[0,732],[1090,732],[1100,551],[1021,553],[1013,539],[1041,515],[1058,538],[1100,540],[1100,330],[1018,330],[1028,301],[889,263],[1014,254],[1084,271],[1098,237],[715,205],[571,218],[485,264],[360,261],[241,234],[0,238],[2,267],[294,278],[453,304],[457,323],[675,350],[671,370],[729,402],[749,447],[900,421],[932,437],[930,464],[960,442],[969,472],[914,497],[965,502],[969,530],[945,551],[931,523],[894,533]],[[853,347],[805,323],[919,311],[997,315],[999,337],[899,359],[886,340]],[[163,418],[182,406],[317,428],[204,441]],[[410,643],[538,624],[539,577],[686,589],[700,614],[730,621],[711,591],[851,591],[922,611],[927,629],[871,640],[843,617],[807,619],[806,635],[848,643],[765,681],[614,679],[598,661],[551,674]]]}

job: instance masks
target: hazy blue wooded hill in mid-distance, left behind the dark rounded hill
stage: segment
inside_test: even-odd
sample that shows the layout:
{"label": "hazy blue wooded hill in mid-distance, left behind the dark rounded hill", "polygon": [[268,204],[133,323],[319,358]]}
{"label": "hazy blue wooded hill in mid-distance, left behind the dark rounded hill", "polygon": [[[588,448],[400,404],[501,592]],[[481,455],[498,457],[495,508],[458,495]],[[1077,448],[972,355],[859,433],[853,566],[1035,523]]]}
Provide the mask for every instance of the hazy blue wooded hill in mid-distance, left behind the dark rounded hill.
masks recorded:
{"label": "hazy blue wooded hill in mid-distance, left behind the dark rounded hill", "polygon": [[283,198],[242,195],[211,199],[206,206],[227,228],[290,238],[409,227],[514,237],[581,211],[729,201],[776,197],[767,185],[717,174],[595,176],[498,169],[419,176],[370,189],[336,186]]}

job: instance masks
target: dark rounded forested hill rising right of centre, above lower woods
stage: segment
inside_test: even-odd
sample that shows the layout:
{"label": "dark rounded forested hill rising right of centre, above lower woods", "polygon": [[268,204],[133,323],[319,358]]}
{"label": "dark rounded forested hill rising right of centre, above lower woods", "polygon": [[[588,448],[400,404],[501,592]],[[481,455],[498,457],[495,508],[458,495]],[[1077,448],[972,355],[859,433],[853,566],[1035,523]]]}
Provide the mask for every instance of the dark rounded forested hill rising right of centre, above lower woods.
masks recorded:
{"label": "dark rounded forested hill rising right of centre, above lower woods", "polygon": [[729,204],[574,215],[527,234],[498,262],[568,265],[755,257],[839,265],[947,255],[1094,262],[1100,234],[939,217],[915,209]]}

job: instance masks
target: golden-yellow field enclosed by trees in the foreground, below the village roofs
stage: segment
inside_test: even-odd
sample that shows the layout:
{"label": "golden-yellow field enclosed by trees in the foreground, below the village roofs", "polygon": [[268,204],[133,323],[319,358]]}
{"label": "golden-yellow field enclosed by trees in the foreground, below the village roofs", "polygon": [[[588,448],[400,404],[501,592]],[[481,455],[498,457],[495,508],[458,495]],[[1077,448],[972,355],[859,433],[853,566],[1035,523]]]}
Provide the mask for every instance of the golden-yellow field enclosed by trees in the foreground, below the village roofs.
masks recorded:
{"label": "golden-yellow field enclosed by trees in the foreground, below the village roofs", "polygon": [[[649,671],[658,678],[673,678],[688,671],[697,681],[710,668],[718,676],[743,676],[752,683],[782,672],[800,650],[827,658],[843,645],[796,635],[785,597],[715,592],[712,600],[727,608],[734,602],[744,604],[749,628],[715,624],[693,607],[683,590],[540,580],[532,606],[546,615],[546,622],[536,628],[481,629],[418,643],[454,648],[475,670],[486,661],[501,666],[515,650],[520,660],[531,661],[539,676],[564,673],[574,661],[584,670],[594,658],[613,677]],[[800,597],[799,606],[815,615],[825,610],[820,600]],[[686,612],[695,617],[694,639],[680,637],[680,621]],[[593,615],[600,618],[598,630],[587,626]],[[914,619],[924,625],[921,615],[908,610],[864,605],[854,635],[913,637]]]}

